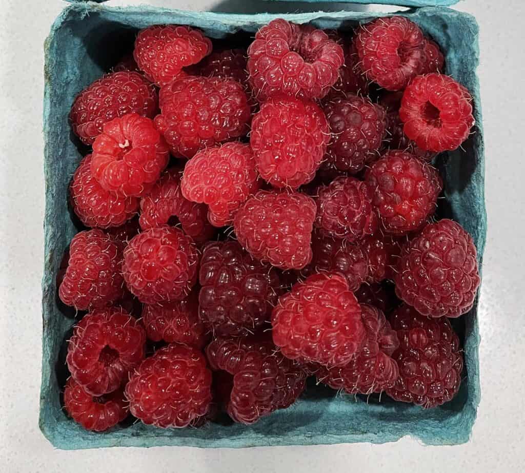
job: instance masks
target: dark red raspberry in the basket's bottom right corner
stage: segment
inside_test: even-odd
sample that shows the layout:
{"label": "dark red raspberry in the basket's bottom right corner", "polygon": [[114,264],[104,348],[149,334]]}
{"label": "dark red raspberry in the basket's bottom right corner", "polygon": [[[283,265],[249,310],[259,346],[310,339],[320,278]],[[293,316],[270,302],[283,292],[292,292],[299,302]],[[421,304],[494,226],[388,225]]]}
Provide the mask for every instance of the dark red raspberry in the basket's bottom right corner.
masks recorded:
{"label": "dark red raspberry in the basket's bottom right corner", "polygon": [[403,305],[391,323],[400,342],[393,354],[400,376],[386,394],[424,408],[450,401],[459,390],[463,370],[459,340],[450,322],[428,319]]}

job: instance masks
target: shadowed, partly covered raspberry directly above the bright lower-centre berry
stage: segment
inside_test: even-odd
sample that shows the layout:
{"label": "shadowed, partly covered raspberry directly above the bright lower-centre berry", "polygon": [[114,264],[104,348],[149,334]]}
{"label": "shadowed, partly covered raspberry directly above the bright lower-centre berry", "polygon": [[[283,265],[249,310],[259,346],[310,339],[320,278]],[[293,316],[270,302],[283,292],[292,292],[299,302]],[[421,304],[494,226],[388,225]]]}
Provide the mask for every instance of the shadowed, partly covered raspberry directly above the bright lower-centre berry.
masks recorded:
{"label": "shadowed, partly covered raspberry directly above the bright lower-centre berry", "polygon": [[339,238],[323,238],[316,232],[312,236],[312,252],[312,262],[301,270],[303,277],[321,271],[340,272],[346,277],[349,289],[355,291],[368,276],[369,263],[360,245]]}

